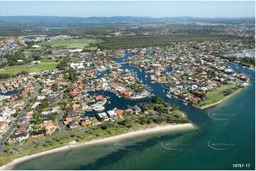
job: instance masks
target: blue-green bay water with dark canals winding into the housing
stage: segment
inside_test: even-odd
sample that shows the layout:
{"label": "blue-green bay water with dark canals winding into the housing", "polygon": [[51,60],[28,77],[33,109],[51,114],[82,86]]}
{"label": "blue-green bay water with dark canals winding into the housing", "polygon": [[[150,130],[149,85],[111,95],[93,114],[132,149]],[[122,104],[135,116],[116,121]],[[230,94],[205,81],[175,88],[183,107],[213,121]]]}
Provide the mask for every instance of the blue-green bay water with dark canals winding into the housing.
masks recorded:
{"label": "blue-green bay water with dark canals winding into the housing", "polygon": [[[28,160],[13,170],[233,170],[235,163],[250,164],[243,170],[255,170],[255,71],[238,67],[252,78],[250,85],[215,107],[196,110],[173,98],[165,98],[160,84],[146,81],[145,73],[138,68],[122,66],[122,69],[126,68],[137,71],[139,78],[153,89],[155,95],[178,105],[188,114],[189,120],[199,126],[199,130],[138,136],[116,142],[118,146],[105,143],[71,149]],[[139,102],[118,98],[109,92],[104,92],[104,95],[111,97],[107,110]],[[211,119],[208,113],[232,114],[232,117],[221,121]],[[214,150],[208,144],[228,150]],[[169,150],[174,146],[179,146],[179,150]]]}

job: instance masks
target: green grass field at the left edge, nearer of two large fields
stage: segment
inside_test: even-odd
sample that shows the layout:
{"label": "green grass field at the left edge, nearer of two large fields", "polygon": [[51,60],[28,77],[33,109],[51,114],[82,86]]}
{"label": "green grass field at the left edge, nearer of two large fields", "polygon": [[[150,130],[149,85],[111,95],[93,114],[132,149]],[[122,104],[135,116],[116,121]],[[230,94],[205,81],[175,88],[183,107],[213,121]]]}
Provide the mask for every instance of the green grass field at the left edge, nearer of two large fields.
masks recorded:
{"label": "green grass field at the left edge, nearer of two large fields", "polygon": [[41,61],[41,64],[35,65],[16,65],[16,66],[6,66],[1,70],[0,73],[9,73],[15,75],[21,71],[28,71],[30,73],[40,72],[40,71],[49,71],[56,69],[58,62],[55,61]]}

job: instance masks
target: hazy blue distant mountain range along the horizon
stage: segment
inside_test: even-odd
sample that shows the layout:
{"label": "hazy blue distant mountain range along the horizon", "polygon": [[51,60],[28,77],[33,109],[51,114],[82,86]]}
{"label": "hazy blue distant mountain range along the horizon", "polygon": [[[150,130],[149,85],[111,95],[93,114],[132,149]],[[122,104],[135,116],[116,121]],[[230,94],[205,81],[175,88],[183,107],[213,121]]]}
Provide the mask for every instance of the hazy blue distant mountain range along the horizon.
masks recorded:
{"label": "hazy blue distant mountain range along the horizon", "polygon": [[145,23],[167,21],[201,21],[211,23],[255,23],[255,18],[195,18],[195,17],[61,17],[61,16],[0,16],[0,23]]}

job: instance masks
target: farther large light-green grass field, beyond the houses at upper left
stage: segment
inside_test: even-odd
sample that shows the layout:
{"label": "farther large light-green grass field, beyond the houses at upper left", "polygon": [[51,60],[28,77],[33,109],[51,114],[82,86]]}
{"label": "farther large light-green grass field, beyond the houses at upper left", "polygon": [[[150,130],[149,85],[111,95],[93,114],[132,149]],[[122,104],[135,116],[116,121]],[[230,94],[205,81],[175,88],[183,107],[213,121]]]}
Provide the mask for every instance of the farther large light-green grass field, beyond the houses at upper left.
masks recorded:
{"label": "farther large light-green grass field, beyond the houses at upper left", "polygon": [[89,44],[100,43],[103,40],[89,40],[89,39],[77,39],[77,40],[52,40],[50,42],[42,42],[39,45],[50,45],[52,47],[87,47]]}

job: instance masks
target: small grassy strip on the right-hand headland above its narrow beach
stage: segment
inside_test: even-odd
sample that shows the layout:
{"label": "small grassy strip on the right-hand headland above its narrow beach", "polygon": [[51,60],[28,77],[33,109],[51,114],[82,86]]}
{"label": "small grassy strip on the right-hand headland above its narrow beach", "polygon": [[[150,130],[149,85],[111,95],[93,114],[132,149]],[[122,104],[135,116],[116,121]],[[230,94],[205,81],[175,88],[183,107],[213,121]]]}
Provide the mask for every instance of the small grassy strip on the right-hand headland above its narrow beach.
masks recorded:
{"label": "small grassy strip on the right-hand headland above its narrow beach", "polygon": [[233,93],[235,93],[236,91],[240,90],[241,88],[235,87],[235,88],[228,88],[226,90],[224,90],[222,93],[218,93],[215,95],[211,95],[210,97],[208,97],[207,100],[205,101],[201,101],[199,102],[199,104],[197,104],[199,107],[206,107],[208,105],[211,105],[213,103],[219,102],[221,100],[223,100],[224,98],[226,98],[228,95],[231,95]]}

